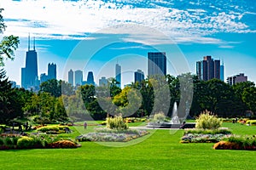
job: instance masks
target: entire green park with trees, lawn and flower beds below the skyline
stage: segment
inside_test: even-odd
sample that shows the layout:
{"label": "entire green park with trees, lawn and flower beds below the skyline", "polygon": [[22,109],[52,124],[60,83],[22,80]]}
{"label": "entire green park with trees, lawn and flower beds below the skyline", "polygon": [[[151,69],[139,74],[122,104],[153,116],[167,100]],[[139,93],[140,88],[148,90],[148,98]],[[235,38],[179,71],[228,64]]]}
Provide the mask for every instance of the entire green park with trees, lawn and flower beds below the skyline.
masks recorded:
{"label": "entire green park with trees, lawn and flower beds below the skyline", "polygon": [[51,79],[34,92],[13,88],[3,67],[19,43],[0,43],[1,169],[255,169],[254,82],[231,86],[189,72],[125,88],[114,78],[75,88]]}

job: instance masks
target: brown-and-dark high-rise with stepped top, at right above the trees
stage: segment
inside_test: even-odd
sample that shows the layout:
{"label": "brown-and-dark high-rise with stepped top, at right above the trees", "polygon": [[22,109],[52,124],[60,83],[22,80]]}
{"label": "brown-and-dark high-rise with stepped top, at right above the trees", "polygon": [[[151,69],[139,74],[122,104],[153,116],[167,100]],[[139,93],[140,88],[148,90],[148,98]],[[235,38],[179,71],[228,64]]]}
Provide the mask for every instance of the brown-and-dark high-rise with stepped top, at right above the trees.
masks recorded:
{"label": "brown-and-dark high-rise with stepped top, at right above the trees", "polygon": [[220,60],[205,56],[203,60],[196,62],[196,75],[200,80],[220,79]]}

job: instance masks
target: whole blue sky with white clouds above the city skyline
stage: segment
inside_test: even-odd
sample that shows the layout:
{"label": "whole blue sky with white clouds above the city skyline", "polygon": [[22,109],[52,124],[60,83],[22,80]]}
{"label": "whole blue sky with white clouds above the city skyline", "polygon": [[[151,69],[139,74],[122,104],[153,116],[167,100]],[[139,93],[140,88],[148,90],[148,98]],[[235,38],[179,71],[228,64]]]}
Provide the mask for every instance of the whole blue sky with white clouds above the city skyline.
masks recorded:
{"label": "whole blue sky with white clouds above the city skyline", "polygon": [[[57,77],[67,71],[94,71],[97,79],[113,77],[119,62],[123,82],[133,71],[147,74],[147,52],[166,51],[168,73],[195,73],[205,55],[224,60],[224,77],[244,72],[256,82],[256,3],[254,0],[53,1],[1,0],[8,26],[4,35],[20,37],[15,61],[7,61],[10,80],[20,84],[27,35],[36,37],[38,72],[57,65]],[[39,76],[39,75],[38,75]]]}

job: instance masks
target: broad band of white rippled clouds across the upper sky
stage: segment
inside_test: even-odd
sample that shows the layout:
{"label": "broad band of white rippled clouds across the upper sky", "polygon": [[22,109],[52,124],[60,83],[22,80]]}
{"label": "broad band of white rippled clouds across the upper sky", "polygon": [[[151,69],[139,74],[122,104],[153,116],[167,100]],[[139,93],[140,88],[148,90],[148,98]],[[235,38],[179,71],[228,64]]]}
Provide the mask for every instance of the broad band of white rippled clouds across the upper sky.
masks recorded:
{"label": "broad band of white rippled clouds across the upper sky", "polygon": [[[84,32],[96,32],[125,23],[152,27],[177,42],[216,43],[221,41],[206,37],[216,32],[255,32],[241,21],[246,13],[232,10],[216,10],[212,13],[202,8],[172,8],[172,3],[167,1],[149,1],[148,6],[151,8],[145,8],[146,5],[138,8],[137,3],[143,4],[143,1],[105,3],[101,0],[1,0],[0,5],[4,8],[3,17],[9,19],[6,21],[8,28],[5,34],[20,37],[26,37],[28,32],[32,32],[38,37],[49,39],[83,39],[74,36],[84,36]],[[150,41],[161,42],[158,39]]]}

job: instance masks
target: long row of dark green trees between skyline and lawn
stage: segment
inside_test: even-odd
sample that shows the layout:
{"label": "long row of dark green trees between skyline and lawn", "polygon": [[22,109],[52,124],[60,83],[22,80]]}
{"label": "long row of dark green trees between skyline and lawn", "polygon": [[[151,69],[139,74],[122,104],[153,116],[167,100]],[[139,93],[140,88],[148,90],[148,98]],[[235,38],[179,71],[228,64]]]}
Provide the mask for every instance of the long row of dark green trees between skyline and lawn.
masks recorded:
{"label": "long row of dark green trees between skyline and lawn", "polygon": [[[124,89],[110,79],[107,86],[84,85],[74,89],[64,81],[49,80],[36,94],[24,88],[11,88],[5,71],[0,71],[0,123],[30,120],[37,123],[76,122],[92,117],[102,120],[108,114],[149,116],[164,112],[172,116],[177,103],[179,115],[189,108],[189,116],[212,111],[222,117],[245,116],[256,111],[256,88],[253,82],[234,86],[212,79],[204,82],[196,76],[146,79]],[[166,98],[167,94],[167,98]],[[191,102],[189,102],[191,101]],[[188,102],[184,104],[184,102]],[[188,108],[187,108],[188,107]]]}

